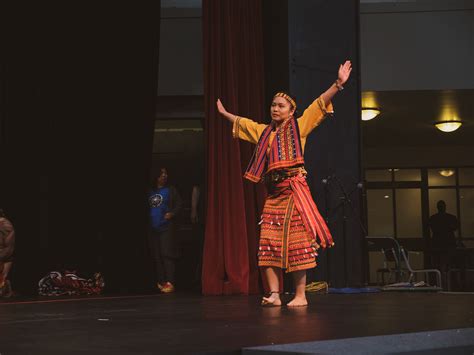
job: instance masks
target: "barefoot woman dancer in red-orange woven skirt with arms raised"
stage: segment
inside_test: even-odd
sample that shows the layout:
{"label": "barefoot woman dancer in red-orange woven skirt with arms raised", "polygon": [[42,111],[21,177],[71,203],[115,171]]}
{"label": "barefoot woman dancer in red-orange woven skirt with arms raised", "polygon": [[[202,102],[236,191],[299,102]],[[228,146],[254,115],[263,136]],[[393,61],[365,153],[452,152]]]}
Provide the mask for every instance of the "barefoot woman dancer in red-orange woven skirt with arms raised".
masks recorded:
{"label": "barefoot woman dancer in red-orange woven skirt with arms raised", "polygon": [[296,294],[287,306],[306,306],[306,270],[316,266],[319,247],[334,244],[306,183],[303,153],[309,133],[333,112],[331,100],[343,89],[351,70],[350,61],[341,64],[337,80],[299,118],[295,99],[276,93],[269,125],[229,113],[217,100],[219,113],[233,124],[234,138],[257,145],[244,177],[252,182],[263,179],[268,189],[258,265],[264,268],[270,294],[263,297],[262,306],[281,306],[278,269],[293,274]]}

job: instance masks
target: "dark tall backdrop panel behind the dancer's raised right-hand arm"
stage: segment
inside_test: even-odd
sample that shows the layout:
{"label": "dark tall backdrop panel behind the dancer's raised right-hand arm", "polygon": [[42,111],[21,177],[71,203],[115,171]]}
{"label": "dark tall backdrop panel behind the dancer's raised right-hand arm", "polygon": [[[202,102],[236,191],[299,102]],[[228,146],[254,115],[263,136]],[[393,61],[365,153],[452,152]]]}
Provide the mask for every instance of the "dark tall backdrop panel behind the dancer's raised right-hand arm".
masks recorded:
{"label": "dark tall backdrop panel behind the dancer's raised right-hand arm", "polygon": [[[361,180],[358,3],[356,0],[263,2],[267,106],[276,91],[287,89],[296,96],[301,114],[335,81],[339,64],[346,59],[353,64],[346,88],[334,99],[334,117],[309,136],[305,148],[311,192],[320,212],[329,221],[336,243],[334,249],[320,253],[319,265],[309,276],[329,280],[337,287],[365,282],[363,232],[359,225],[361,190],[357,189]],[[331,179],[325,188],[321,181],[330,175],[337,179]],[[351,202],[344,208],[340,187]]]}

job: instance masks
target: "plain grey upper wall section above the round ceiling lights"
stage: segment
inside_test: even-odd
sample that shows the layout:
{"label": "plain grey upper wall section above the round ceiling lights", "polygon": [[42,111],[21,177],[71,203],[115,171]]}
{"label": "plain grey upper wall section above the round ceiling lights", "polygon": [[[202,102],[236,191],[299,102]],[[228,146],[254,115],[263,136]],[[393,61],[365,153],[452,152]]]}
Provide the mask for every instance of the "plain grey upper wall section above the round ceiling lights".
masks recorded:
{"label": "plain grey upper wall section above the round ceiling lights", "polygon": [[474,1],[363,2],[362,90],[474,88]]}

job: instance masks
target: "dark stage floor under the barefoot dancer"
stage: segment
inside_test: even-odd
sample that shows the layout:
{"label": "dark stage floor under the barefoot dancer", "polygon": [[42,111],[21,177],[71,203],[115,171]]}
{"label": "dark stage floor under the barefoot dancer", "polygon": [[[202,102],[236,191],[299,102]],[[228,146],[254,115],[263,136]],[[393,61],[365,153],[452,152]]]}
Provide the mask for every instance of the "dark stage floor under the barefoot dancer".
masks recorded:
{"label": "dark stage floor under the barefoot dancer", "polygon": [[473,294],[310,294],[307,308],[257,296],[174,294],[0,302],[0,354],[176,354],[474,327]]}

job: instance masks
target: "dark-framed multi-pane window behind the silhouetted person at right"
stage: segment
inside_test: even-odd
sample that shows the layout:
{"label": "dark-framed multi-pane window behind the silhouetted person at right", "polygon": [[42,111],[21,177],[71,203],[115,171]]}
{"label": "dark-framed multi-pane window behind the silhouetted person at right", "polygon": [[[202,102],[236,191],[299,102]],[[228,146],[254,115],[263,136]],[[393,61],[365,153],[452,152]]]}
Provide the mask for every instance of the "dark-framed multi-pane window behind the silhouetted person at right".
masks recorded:
{"label": "dark-framed multi-pane window behind the silhouetted person at right", "polygon": [[473,167],[367,169],[365,177],[369,236],[429,238],[428,218],[443,200],[460,221],[457,235],[474,243]]}

